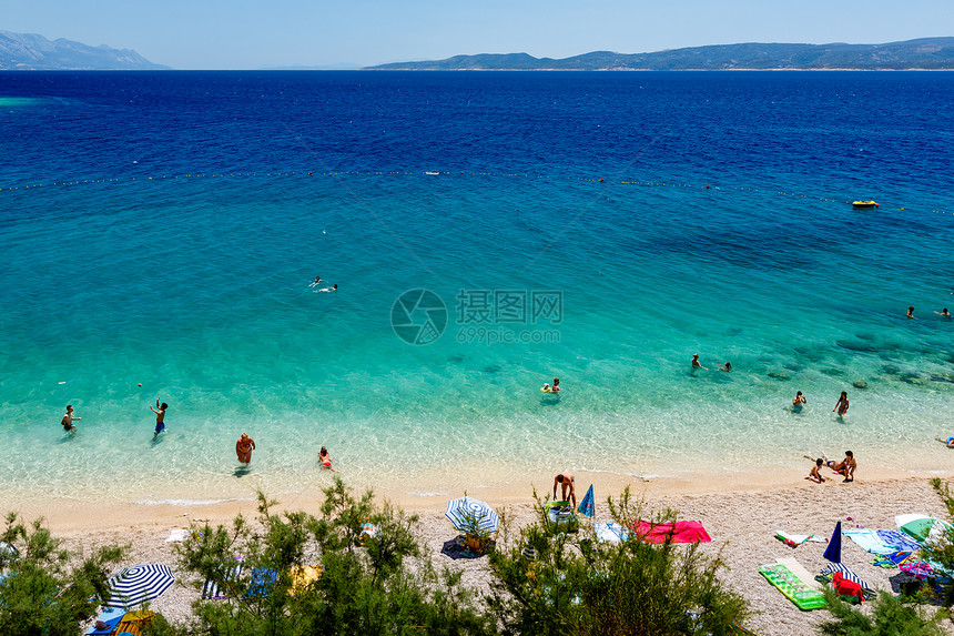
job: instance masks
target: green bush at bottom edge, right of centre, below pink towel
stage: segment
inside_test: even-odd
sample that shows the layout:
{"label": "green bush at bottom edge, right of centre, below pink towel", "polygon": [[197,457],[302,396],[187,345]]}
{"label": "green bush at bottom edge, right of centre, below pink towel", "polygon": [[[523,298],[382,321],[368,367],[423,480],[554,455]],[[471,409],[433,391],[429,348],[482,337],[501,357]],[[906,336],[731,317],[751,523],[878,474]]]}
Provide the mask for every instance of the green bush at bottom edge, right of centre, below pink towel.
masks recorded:
{"label": "green bush at bottom edge, right of centre, below pink towel", "polygon": [[[647,518],[629,488],[609,505],[622,527]],[[698,544],[649,544],[632,533],[599,543],[590,528],[577,541],[548,527],[539,499],[537,512],[512,547],[490,555],[489,603],[506,634],[720,636],[739,633],[749,615],[744,599],[717,578],[721,558],[704,556]],[[672,512],[650,518],[673,519]]]}

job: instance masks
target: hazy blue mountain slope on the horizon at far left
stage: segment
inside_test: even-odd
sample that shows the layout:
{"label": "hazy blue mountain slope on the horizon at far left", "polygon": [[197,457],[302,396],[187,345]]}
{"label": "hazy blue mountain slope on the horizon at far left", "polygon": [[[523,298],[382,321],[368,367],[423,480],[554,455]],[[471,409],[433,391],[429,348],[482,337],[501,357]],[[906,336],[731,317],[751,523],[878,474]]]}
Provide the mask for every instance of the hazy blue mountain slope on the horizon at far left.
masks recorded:
{"label": "hazy blue mountain slope on the horizon at far left", "polygon": [[34,33],[0,31],[0,70],[105,71],[164,70],[131,49],[89,47],[71,40],[48,40]]}

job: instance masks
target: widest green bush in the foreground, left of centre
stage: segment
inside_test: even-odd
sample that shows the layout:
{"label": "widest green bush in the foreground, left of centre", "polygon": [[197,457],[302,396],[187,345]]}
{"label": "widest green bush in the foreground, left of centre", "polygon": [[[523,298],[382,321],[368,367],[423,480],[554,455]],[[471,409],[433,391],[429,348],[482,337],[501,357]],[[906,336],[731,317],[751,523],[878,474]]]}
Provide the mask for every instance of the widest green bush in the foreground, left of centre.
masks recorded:
{"label": "widest green bush in the foreground, left of centre", "polygon": [[[181,565],[211,578],[223,600],[199,600],[189,626],[156,622],[153,634],[471,634],[493,632],[459,575],[437,573],[413,535],[416,516],[356,498],[342,481],[324,491],[322,514],[274,514],[258,497],[256,522],[195,528],[180,547]],[[362,526],[376,536],[362,542]],[[242,573],[235,576],[236,557]],[[415,568],[407,563],[415,559]],[[296,585],[296,573],[321,563],[321,576]]]}

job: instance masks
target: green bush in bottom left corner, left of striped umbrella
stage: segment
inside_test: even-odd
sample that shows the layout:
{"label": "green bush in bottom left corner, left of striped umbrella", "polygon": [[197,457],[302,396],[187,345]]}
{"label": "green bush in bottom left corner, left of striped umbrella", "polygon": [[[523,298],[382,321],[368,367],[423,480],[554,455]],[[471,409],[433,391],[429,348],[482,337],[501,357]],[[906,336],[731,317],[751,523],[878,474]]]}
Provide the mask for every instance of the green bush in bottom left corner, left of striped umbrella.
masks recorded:
{"label": "green bush in bottom left corner, left of striped umbrella", "polygon": [[105,546],[83,558],[62,549],[37,519],[27,526],[7,515],[0,535],[0,634],[3,636],[73,636],[79,622],[109,598],[106,578],[125,548]]}

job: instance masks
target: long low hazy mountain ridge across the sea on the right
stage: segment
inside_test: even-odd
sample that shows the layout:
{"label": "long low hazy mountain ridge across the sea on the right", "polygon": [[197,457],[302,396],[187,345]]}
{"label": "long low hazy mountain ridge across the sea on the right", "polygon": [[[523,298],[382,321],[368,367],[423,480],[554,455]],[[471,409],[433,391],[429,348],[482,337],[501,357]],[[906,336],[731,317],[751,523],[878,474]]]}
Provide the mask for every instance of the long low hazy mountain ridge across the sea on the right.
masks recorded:
{"label": "long low hazy mountain ridge across the sea on the right", "polygon": [[527,53],[455,55],[428,62],[397,62],[368,70],[420,71],[684,71],[684,70],[905,70],[954,69],[954,38],[923,38],[885,44],[717,44],[654,53],[593,51],[572,58]]}

